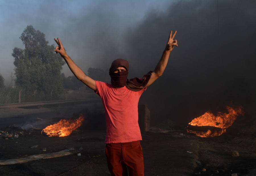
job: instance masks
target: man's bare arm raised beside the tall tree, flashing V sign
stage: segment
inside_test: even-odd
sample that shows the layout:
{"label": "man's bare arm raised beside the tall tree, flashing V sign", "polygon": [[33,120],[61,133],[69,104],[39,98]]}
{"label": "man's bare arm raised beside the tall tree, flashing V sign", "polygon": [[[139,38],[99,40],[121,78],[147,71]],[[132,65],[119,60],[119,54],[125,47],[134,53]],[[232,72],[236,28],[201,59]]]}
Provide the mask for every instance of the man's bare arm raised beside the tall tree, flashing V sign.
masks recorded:
{"label": "man's bare arm raised beside the tall tree, flashing V sign", "polygon": [[59,38],[54,38],[54,40],[58,44],[58,46],[56,46],[54,50],[56,54],[60,53],[61,57],[63,57],[63,59],[69,66],[69,69],[75,75],[75,77],[77,77],[78,80],[82,81],[85,85],[96,91],[97,89],[95,81],[89,76],[86,76],[84,72],[72,61],[72,59],[67,55],[66,51],[64,50]]}

